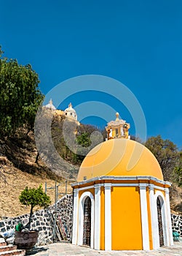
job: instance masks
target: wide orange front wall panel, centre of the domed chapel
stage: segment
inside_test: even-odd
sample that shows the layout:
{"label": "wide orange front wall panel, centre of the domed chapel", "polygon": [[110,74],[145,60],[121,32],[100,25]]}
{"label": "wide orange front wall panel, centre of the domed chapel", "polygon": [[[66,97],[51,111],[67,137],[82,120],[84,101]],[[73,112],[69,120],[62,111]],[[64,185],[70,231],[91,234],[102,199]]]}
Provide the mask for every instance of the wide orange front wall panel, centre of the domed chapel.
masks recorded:
{"label": "wide orange front wall panel, centre of the domed chapel", "polygon": [[113,187],[111,209],[111,249],[143,249],[139,188]]}

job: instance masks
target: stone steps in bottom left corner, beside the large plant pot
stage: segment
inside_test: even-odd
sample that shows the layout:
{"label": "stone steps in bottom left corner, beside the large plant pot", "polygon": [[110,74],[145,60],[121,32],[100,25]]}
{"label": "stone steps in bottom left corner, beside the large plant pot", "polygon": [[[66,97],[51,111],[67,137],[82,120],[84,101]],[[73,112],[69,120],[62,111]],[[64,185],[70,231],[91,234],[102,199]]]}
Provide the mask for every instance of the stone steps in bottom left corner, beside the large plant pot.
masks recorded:
{"label": "stone steps in bottom left corner, beside the large plant pot", "polygon": [[5,242],[4,238],[0,238],[0,256],[25,256],[25,249],[17,249],[16,245]]}

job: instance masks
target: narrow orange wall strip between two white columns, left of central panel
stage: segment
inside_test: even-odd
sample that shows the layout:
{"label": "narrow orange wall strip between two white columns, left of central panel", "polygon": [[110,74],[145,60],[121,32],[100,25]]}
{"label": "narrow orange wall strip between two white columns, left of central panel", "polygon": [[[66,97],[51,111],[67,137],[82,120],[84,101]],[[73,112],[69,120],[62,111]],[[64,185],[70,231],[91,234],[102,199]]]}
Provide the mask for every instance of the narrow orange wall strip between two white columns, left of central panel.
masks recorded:
{"label": "narrow orange wall strip between two white columns, left of central panel", "polygon": [[104,188],[100,188],[100,249],[105,249],[105,202],[104,202]]}

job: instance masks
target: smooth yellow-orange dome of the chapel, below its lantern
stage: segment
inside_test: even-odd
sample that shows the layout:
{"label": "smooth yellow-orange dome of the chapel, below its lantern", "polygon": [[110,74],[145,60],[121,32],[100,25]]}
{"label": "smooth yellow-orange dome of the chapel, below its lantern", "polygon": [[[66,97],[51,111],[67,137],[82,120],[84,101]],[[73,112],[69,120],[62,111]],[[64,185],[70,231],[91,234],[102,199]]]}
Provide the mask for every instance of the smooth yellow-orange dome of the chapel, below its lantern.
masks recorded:
{"label": "smooth yellow-orange dome of the chapel, below its lantern", "polygon": [[77,181],[97,176],[153,176],[163,180],[154,154],[141,143],[127,139],[107,140],[87,154]]}

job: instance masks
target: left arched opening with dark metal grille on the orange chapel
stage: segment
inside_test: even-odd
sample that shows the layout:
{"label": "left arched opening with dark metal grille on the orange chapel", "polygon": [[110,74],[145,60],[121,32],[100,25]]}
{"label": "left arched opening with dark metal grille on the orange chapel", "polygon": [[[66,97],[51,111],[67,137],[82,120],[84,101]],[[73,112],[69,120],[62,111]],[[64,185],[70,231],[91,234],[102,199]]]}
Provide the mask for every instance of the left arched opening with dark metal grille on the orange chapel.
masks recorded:
{"label": "left arched opening with dark metal grille on the orange chapel", "polygon": [[83,219],[83,244],[90,246],[91,238],[91,200],[86,197],[84,200],[84,219]]}

